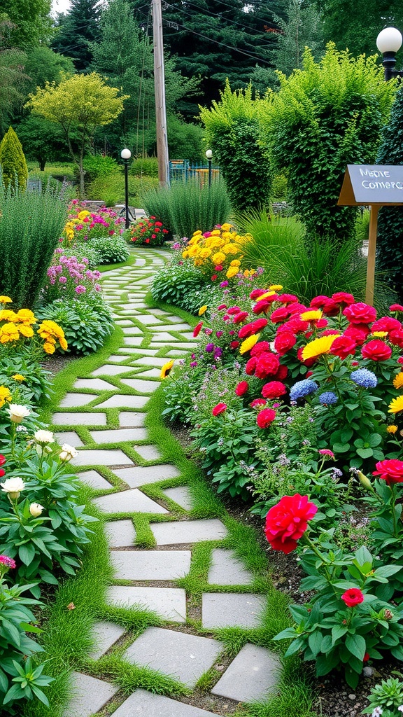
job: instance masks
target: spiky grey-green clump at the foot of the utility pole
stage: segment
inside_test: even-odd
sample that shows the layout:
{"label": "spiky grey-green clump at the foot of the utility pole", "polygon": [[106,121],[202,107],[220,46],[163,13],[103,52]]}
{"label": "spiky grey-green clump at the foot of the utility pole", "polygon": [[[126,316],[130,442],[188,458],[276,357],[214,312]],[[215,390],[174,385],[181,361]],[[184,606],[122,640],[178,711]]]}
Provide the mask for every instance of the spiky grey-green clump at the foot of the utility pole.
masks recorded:
{"label": "spiky grey-green clump at the foot of the utility pole", "polygon": [[199,185],[198,181],[177,181],[165,189],[141,194],[143,209],[158,217],[163,226],[177,237],[191,237],[215,224],[227,222],[231,207],[224,183]]}

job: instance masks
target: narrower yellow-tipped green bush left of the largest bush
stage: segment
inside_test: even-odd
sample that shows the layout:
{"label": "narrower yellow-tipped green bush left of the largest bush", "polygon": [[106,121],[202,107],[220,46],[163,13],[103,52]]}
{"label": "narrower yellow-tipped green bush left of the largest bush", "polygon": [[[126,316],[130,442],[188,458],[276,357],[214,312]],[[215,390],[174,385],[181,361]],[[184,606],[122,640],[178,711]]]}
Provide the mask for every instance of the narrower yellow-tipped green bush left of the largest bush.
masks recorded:
{"label": "narrower yellow-tipped green bush left of the largest bush", "polygon": [[235,209],[267,203],[270,194],[270,163],[260,146],[259,103],[252,100],[252,85],[231,91],[229,82],[219,103],[201,109],[207,142],[219,164]]}

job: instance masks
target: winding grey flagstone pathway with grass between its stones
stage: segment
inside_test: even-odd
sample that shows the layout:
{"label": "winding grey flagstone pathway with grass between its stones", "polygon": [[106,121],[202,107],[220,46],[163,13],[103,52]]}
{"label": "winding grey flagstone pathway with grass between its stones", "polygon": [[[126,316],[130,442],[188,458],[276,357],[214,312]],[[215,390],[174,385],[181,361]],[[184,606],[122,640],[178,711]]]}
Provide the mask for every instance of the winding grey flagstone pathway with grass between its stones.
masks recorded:
{"label": "winding grey flagstone pathway with grass between its stones", "polygon": [[[77,447],[72,465],[79,467],[80,479],[98,491],[94,503],[105,514],[115,572],[107,604],[151,610],[163,627],[146,627],[130,640],[131,633],[117,623],[96,623],[89,655],[93,668],[90,674],[73,673],[74,696],[64,717],[213,717],[232,712],[239,702],[264,699],[276,681],[278,659],[271,652],[247,642],[229,660],[214,635],[221,627],[259,627],[266,598],[250,592],[252,574],[232,551],[219,547],[217,541],[227,536],[224,523],[192,518],[191,491],[179,470],[163,463],[157,447],[147,440],[144,417],[148,399],[160,385],[161,366],[194,348],[188,324],[144,303],[153,272],[163,262],[157,250],[138,249],[135,265],[103,274],[105,298],[123,330],[123,343],[105,365],[75,381],[53,416],[60,442]],[[162,481],[176,485],[167,488]],[[166,499],[147,495],[147,488],[157,485]],[[153,536],[150,549],[136,545],[134,518],[140,513]],[[189,574],[194,546],[201,541],[215,541],[208,577],[212,588],[203,594],[195,622],[189,619],[186,590],[177,587],[176,580]],[[219,592],[232,586],[237,590]],[[127,696],[118,685],[99,679],[97,661],[115,655],[124,640],[128,647],[119,653],[121,660],[185,685],[186,701],[143,689]],[[191,690],[212,668],[217,676],[209,683],[203,703],[207,708],[201,709],[191,704]]]}

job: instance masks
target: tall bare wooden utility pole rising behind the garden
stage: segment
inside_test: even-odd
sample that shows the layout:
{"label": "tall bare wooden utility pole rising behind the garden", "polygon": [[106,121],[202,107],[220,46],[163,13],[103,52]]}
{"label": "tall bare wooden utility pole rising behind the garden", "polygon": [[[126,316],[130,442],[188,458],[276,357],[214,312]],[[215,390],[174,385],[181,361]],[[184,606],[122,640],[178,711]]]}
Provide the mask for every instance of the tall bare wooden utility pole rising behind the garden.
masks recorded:
{"label": "tall bare wooden utility pole rising behind the garden", "polygon": [[161,0],[152,0],[152,10],[158,179],[159,185],[161,187],[165,187],[169,186],[169,157],[168,137],[166,134],[165,71],[163,66]]}

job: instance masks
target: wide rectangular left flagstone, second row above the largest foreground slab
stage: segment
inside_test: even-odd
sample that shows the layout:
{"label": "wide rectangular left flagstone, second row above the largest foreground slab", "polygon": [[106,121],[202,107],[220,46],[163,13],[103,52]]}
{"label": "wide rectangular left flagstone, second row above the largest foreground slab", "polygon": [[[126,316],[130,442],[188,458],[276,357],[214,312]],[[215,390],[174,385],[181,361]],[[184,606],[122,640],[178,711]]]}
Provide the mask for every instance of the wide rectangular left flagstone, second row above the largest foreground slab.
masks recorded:
{"label": "wide rectangular left flagstone, second row above the largest foreground slab", "polygon": [[110,560],[118,580],[176,580],[189,573],[191,551],[114,550]]}

